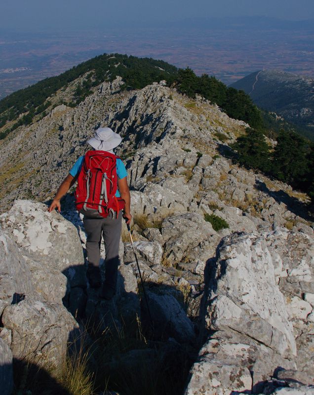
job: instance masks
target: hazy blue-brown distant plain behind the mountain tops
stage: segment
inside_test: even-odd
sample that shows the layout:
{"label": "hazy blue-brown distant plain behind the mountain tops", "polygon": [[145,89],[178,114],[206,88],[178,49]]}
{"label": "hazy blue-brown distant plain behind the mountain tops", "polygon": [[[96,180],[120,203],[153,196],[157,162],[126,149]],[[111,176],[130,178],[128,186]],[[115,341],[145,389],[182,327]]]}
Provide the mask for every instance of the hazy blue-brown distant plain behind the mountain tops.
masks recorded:
{"label": "hazy blue-brown distant plain behind the mountain tops", "polygon": [[262,69],[314,77],[314,24],[200,23],[56,33],[0,31],[0,98],[102,53],[162,59],[226,84]]}

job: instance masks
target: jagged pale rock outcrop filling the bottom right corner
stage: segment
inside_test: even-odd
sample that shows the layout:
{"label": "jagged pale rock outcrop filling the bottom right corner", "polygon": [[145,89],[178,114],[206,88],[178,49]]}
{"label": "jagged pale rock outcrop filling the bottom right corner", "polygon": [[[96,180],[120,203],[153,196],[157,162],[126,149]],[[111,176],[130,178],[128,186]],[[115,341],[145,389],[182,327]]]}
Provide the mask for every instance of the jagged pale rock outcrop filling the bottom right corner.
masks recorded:
{"label": "jagged pale rock outcrop filling the bottom right corner", "polygon": [[[223,239],[207,277],[205,325],[217,332],[199,353],[186,395],[258,394],[279,368],[314,384],[314,306],[304,300],[312,300],[305,295],[313,257],[313,237],[283,229]],[[287,289],[294,281],[299,287]]]}

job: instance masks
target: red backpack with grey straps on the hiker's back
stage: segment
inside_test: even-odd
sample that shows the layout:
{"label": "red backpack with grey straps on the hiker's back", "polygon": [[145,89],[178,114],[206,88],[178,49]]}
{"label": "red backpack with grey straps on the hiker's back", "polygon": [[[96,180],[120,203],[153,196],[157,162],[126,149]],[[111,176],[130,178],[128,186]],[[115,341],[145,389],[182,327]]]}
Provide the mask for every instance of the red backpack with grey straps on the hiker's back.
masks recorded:
{"label": "red backpack with grey straps on the hiker's back", "polygon": [[116,197],[118,189],[117,157],[106,151],[87,151],[75,192],[77,210],[97,210],[106,218],[111,213],[118,218],[124,200]]}

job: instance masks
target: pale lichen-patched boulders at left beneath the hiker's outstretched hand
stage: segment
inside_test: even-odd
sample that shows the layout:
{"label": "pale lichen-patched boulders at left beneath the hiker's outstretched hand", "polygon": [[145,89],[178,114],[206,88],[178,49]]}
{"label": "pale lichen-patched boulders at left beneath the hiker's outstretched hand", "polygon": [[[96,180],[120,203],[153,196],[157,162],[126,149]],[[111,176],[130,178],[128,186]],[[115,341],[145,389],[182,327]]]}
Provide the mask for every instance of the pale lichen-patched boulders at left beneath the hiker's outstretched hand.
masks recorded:
{"label": "pale lichen-patched boulders at left beneath the hiker's outstretched hand", "polygon": [[[49,244],[48,237],[59,247],[58,238],[66,245],[64,230],[68,221],[62,217],[56,220],[54,216],[45,221],[46,206],[41,203],[19,201],[14,209],[16,216],[12,212],[1,216],[5,232],[0,229],[0,337],[15,358],[58,365],[65,356],[70,334],[78,324],[62,304],[68,280],[60,272],[64,264],[57,262],[57,247]],[[44,235],[45,231],[54,233],[53,238]],[[77,233],[75,235],[77,237]],[[78,254],[82,253],[80,245],[79,249]],[[51,259],[50,253],[55,255],[51,255]]]}

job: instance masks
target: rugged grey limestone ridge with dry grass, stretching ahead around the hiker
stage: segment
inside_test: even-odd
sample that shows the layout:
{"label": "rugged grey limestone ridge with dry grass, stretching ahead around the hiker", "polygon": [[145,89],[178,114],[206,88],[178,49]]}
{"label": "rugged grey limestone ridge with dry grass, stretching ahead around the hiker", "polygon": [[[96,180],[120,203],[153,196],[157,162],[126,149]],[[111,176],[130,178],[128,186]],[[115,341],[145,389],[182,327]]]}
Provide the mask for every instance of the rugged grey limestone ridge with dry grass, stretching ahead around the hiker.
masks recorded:
{"label": "rugged grey limestone ridge with dry grass, stretching ahead around the hiker", "polygon": [[[57,107],[0,142],[7,188],[3,208],[15,197],[52,196],[86,150],[93,129],[99,123],[111,125],[123,137],[118,155],[128,168],[133,236],[143,277],[151,284],[156,336],[196,344],[198,332],[203,343],[185,393],[258,394],[281,387],[289,391],[296,382],[313,385],[314,236],[313,223],[297,198],[301,196],[224,157],[226,142],[244,130],[243,122],[208,101],[170,90],[162,81],[131,92],[120,92],[120,83],[103,83],[79,107]],[[5,173],[12,155],[16,165]],[[93,316],[104,328],[110,325],[108,310],[119,321],[121,303],[124,320],[145,316],[126,239],[120,248],[118,295],[110,306],[99,303],[97,294],[86,288],[81,254],[85,235],[71,196],[63,207],[79,236],[68,221],[47,214],[40,203],[18,200],[1,216],[1,237],[12,238],[15,251],[8,256],[20,254],[18,262],[29,278],[19,284],[18,276],[8,272],[11,264],[3,269],[3,278],[13,280],[5,279],[11,293],[1,298],[1,309],[9,312],[2,318],[1,337],[11,339],[13,330],[20,333],[13,343],[8,341],[13,354],[15,339],[28,329],[14,321],[11,310],[25,305],[26,311],[36,311],[40,302],[49,304],[52,315],[59,314],[55,306],[63,306],[53,289],[65,296],[63,303],[73,316]],[[215,217],[229,228],[217,229],[211,222]],[[62,242],[66,247],[55,247]],[[4,250],[5,245],[8,241]],[[71,259],[62,255],[65,249],[72,251],[67,255]],[[42,281],[51,275],[58,279],[53,289]],[[188,316],[177,302],[178,292],[186,295]],[[27,297],[9,306],[14,294]]]}

